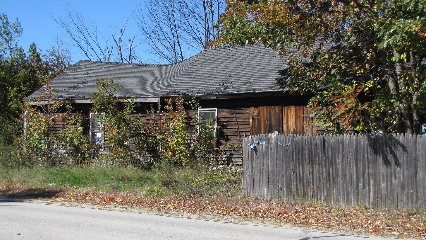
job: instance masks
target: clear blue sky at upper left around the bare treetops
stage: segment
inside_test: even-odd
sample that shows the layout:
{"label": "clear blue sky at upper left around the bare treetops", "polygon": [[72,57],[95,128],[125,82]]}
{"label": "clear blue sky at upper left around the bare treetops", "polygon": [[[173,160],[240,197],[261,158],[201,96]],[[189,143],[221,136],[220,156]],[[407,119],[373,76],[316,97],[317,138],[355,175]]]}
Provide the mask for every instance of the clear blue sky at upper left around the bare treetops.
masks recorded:
{"label": "clear blue sky at upper left around the bare treetops", "polygon": [[[15,0],[3,1],[1,3],[0,13],[8,15],[9,21],[14,22],[15,18],[21,23],[23,36],[20,38],[19,45],[28,50],[29,44],[34,42],[37,49],[46,51],[50,46],[55,45],[56,40],[66,38],[62,35],[61,29],[52,17],[61,17],[65,15],[65,6],[68,4],[73,11],[81,13],[85,17],[95,19],[98,29],[105,35],[111,35],[116,32],[114,26],[123,26],[126,19],[137,8],[139,1],[117,1],[117,0]],[[139,35],[138,26],[131,18],[127,24],[127,34]],[[136,41],[136,40],[135,40]],[[139,45],[141,49],[143,45]],[[84,56],[75,49],[69,49],[72,52],[72,62],[75,63]],[[142,58],[149,59],[152,56],[140,51]]]}

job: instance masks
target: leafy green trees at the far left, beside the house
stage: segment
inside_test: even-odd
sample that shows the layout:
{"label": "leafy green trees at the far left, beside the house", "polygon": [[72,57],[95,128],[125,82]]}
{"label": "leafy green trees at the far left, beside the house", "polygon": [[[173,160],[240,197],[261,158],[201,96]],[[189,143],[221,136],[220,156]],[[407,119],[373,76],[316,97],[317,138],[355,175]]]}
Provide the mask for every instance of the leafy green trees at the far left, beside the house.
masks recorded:
{"label": "leafy green trees at the far left, beside the house", "polygon": [[34,43],[25,53],[20,22],[2,14],[0,27],[0,140],[11,143],[22,130],[23,100],[69,67],[71,55],[61,45],[42,55]]}

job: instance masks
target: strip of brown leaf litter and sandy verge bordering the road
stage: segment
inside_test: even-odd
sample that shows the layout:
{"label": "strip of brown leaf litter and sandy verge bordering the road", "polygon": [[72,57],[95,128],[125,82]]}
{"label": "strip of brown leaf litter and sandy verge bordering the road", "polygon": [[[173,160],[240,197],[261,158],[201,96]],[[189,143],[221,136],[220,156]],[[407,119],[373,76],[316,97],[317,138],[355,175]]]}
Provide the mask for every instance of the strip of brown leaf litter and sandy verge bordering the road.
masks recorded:
{"label": "strip of brown leaf litter and sandy verge bordering the road", "polygon": [[[154,197],[138,192],[109,192],[46,187],[54,196],[39,198],[60,205],[108,208],[245,224],[300,227],[317,231],[426,239],[426,214],[418,210],[352,208],[310,202],[276,202],[253,197],[178,195]],[[21,186],[0,184],[0,195],[20,197]],[[5,194],[6,193],[6,194]],[[32,198],[34,199],[34,198]]]}

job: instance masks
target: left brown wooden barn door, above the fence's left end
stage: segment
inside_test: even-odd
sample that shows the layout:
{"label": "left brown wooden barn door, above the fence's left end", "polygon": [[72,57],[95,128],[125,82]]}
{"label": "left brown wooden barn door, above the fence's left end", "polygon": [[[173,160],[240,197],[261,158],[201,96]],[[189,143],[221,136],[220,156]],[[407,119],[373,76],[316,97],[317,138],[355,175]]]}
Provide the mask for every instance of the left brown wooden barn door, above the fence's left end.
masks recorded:
{"label": "left brown wooden barn door, above the fence's left end", "polygon": [[282,133],[282,106],[251,107],[250,135]]}

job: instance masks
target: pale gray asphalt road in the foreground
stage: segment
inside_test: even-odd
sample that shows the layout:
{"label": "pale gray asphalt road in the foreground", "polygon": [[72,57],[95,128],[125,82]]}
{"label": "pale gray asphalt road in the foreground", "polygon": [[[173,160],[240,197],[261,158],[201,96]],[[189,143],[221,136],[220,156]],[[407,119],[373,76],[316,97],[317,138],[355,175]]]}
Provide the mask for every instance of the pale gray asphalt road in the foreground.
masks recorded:
{"label": "pale gray asphalt road in the foreground", "polygon": [[0,199],[0,239],[294,239],[381,237],[245,225]]}

